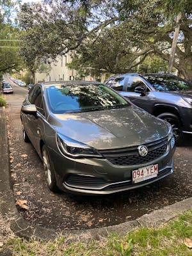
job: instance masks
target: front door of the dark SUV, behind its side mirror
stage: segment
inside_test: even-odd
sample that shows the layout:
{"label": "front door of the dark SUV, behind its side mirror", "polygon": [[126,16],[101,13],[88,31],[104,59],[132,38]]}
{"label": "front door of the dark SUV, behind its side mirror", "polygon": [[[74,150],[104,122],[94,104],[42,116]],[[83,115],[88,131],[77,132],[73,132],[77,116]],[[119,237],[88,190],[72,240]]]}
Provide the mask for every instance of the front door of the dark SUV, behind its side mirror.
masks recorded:
{"label": "front door of the dark SUV, behind its side mirror", "polygon": [[[145,88],[145,95],[134,91],[138,86]],[[124,85],[124,90],[120,92],[120,94],[129,98],[136,106],[152,113],[155,100],[154,93],[150,90],[147,84],[142,81],[141,77],[129,76],[127,83]]]}

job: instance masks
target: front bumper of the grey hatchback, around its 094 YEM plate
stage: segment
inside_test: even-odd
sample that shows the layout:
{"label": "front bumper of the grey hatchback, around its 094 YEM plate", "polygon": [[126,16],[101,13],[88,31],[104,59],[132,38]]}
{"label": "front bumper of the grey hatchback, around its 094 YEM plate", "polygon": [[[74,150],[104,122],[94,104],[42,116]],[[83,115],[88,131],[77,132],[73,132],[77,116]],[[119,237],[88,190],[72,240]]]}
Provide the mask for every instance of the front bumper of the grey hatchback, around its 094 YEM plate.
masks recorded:
{"label": "front bumper of the grey hatchback, around its 094 YEM plate", "polygon": [[[58,187],[70,193],[88,195],[108,195],[133,188],[140,188],[173,173],[175,147],[169,147],[163,156],[145,164],[129,166],[112,164],[108,159],[70,159],[51,150]],[[157,177],[134,184],[132,170],[152,164],[159,165]]]}

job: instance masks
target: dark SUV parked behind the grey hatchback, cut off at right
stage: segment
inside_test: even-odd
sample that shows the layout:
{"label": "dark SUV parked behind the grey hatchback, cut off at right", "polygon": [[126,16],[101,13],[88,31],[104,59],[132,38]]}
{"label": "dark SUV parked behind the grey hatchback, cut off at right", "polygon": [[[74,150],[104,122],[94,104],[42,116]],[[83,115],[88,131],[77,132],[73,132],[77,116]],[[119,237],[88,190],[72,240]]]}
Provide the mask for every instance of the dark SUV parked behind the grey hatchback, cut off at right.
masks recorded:
{"label": "dark SUV parked behind the grey hatchback, cut off at right", "polygon": [[136,106],[169,122],[175,139],[192,134],[192,84],[172,74],[124,74],[110,77],[109,87]]}

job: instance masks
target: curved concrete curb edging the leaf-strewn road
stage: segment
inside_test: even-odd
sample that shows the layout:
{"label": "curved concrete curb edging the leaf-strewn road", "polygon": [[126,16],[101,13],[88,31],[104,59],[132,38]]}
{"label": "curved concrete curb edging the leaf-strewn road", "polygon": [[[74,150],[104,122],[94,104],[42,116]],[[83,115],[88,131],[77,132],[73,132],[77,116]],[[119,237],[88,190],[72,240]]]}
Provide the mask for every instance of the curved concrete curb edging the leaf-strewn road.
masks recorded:
{"label": "curved concrete curb edging the leaf-strewn road", "polygon": [[4,220],[10,225],[12,231],[20,237],[30,239],[50,240],[64,236],[66,241],[77,241],[79,239],[90,240],[92,238],[100,239],[100,237],[108,236],[111,232],[125,235],[128,232],[140,227],[155,227],[161,223],[165,223],[172,218],[177,217],[192,207],[192,197],[173,205],[156,210],[150,214],[144,214],[140,218],[121,223],[119,225],[93,228],[90,230],[56,230],[31,225],[24,220],[17,211],[12,191],[12,182],[10,179],[10,161],[8,138],[6,134],[5,109],[0,108],[0,211]]}

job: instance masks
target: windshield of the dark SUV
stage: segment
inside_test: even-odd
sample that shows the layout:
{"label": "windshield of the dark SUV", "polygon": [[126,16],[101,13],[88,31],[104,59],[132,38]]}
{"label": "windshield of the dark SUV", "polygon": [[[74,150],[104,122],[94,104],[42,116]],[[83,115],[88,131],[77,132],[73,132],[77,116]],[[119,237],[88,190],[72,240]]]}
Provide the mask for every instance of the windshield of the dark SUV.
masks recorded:
{"label": "windshield of the dark SUV", "polygon": [[144,76],[158,91],[192,90],[192,84],[175,76]]}

